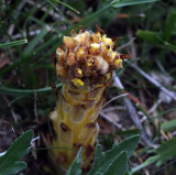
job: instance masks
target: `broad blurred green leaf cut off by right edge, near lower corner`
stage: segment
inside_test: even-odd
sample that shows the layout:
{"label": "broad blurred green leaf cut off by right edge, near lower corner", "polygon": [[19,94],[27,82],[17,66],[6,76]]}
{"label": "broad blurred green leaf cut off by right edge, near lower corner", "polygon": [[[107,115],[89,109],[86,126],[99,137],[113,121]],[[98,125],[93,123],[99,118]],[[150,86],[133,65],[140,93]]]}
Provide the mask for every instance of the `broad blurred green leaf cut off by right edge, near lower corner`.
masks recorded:
{"label": "broad blurred green leaf cut off by right edge, near lower corner", "polygon": [[157,166],[161,166],[164,164],[166,161],[169,161],[174,157],[176,157],[176,138],[167,141],[163,145],[161,145],[157,150]]}

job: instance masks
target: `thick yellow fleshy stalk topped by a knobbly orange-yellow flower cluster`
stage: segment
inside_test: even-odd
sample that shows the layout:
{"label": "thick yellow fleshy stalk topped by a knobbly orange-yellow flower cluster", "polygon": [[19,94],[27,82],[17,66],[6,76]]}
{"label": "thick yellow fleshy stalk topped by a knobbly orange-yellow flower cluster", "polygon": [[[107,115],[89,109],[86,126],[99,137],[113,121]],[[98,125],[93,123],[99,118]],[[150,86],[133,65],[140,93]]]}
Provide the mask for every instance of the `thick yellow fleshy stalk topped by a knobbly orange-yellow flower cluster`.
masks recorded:
{"label": "thick yellow fleshy stalk topped by a knobbly orange-yellow flower cluster", "polygon": [[54,65],[63,89],[50,116],[56,132],[52,146],[75,150],[52,150],[64,169],[68,169],[80,146],[81,168],[89,169],[99,131],[97,117],[112,70],[122,68],[122,59],[130,57],[116,52],[117,41],[107,37],[99,26],[96,33],[80,26],[78,34],[73,30],[72,36],[64,36],[64,45],[56,50]]}

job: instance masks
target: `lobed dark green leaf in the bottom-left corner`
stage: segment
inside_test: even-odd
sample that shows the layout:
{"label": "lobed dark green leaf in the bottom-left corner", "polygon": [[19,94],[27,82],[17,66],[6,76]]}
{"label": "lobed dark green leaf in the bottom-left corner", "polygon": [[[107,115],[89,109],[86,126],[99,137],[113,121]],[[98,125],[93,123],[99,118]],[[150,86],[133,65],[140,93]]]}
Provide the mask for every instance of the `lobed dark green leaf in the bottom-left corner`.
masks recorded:
{"label": "lobed dark green leaf in the bottom-left corner", "polygon": [[26,167],[26,164],[19,160],[30,152],[33,131],[26,131],[12,143],[4,155],[0,156],[1,175],[16,174]]}

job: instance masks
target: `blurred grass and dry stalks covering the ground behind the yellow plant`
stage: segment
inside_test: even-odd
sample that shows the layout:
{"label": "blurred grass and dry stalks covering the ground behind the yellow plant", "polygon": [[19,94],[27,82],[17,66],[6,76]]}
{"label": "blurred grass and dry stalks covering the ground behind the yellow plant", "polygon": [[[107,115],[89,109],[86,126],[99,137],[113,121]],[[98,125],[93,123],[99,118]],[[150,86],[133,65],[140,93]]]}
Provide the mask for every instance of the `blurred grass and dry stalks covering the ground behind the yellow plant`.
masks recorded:
{"label": "blurred grass and dry stalks covering the ground behind the yellow plant", "polygon": [[[107,92],[109,102],[98,119],[99,142],[108,150],[141,133],[131,172],[176,174],[176,1],[110,4],[110,0],[0,0],[0,152],[29,129],[40,136],[24,157],[29,166],[21,175],[52,174],[45,138],[53,134],[52,85],[62,87],[53,54],[63,35],[79,24],[95,31],[96,23],[109,37],[122,37],[118,52],[131,55]],[[118,98],[123,92],[128,95]]]}

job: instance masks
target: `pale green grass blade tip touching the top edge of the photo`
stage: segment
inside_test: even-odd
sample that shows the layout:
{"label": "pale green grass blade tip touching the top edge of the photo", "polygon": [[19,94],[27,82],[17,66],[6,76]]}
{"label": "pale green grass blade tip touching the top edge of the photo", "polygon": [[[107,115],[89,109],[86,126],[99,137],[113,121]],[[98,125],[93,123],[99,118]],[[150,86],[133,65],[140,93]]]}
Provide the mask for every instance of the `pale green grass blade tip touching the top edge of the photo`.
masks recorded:
{"label": "pale green grass blade tip touching the top edge of the photo", "polygon": [[122,8],[127,6],[133,6],[133,4],[141,4],[141,3],[147,3],[147,2],[155,2],[158,0],[113,0],[111,2],[112,7],[114,8]]}

